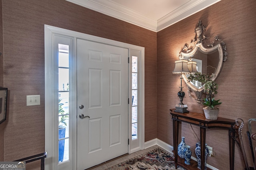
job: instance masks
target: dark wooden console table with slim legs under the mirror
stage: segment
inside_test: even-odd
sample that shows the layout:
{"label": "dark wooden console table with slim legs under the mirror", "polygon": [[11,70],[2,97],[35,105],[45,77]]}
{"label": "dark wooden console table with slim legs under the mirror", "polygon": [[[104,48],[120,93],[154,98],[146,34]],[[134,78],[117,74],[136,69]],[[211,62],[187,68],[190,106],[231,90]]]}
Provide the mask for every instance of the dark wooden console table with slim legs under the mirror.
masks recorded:
{"label": "dark wooden console table with slim legs under the mirror", "polygon": [[[181,159],[178,159],[178,131],[179,131],[179,122],[185,122],[192,125],[196,125],[200,127],[200,142],[201,142],[201,155],[205,154],[205,138],[206,138],[206,129],[228,129],[228,136],[229,136],[229,155],[230,155],[230,170],[234,170],[234,140],[232,137],[235,136],[235,129],[233,126],[236,124],[235,120],[232,119],[225,119],[222,117],[218,117],[217,120],[209,120],[206,119],[204,114],[202,113],[195,113],[190,111],[189,113],[179,113],[175,112],[175,109],[170,109],[170,113],[172,115],[173,121],[173,145],[174,145],[174,160],[175,160],[175,167],[183,166],[188,170],[194,169],[192,166],[184,164]],[[204,170],[204,156],[201,156],[201,169]],[[197,165],[196,165],[197,167]]]}

